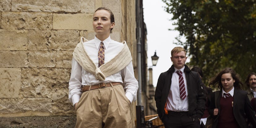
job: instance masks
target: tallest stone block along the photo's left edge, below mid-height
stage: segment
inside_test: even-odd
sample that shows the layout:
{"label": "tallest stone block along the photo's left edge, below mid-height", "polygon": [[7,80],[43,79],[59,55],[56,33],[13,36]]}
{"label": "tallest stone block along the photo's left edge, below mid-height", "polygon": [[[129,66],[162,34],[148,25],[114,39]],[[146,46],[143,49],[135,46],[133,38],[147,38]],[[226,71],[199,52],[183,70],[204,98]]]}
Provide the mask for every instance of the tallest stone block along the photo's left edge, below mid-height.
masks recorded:
{"label": "tallest stone block along the photo's left edge, below mid-height", "polygon": [[21,87],[20,68],[0,68],[0,98],[18,98]]}

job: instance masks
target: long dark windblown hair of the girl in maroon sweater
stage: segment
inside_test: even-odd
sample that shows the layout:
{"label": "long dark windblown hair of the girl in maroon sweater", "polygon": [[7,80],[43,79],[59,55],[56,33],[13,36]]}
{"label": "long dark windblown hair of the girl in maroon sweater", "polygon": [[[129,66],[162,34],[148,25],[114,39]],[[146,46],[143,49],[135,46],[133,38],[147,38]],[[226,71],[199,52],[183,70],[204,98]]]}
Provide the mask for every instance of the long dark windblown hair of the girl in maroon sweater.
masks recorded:
{"label": "long dark windblown hair of the girl in maroon sweater", "polygon": [[234,87],[241,89],[240,86],[243,86],[243,83],[240,81],[239,75],[231,68],[225,68],[224,70],[220,71],[220,73],[210,81],[209,85],[218,85],[218,88],[222,90],[221,76],[225,73],[230,73],[232,78],[235,80]]}

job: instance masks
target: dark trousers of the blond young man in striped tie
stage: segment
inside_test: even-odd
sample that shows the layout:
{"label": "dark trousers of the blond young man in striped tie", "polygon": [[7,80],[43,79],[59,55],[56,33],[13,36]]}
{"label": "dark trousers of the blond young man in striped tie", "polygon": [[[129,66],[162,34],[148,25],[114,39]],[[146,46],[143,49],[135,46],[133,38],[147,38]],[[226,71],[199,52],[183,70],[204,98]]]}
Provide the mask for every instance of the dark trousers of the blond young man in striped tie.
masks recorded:
{"label": "dark trousers of the blond young man in striped tie", "polygon": [[200,128],[200,121],[194,115],[190,117],[188,112],[168,111],[163,118],[165,128]]}

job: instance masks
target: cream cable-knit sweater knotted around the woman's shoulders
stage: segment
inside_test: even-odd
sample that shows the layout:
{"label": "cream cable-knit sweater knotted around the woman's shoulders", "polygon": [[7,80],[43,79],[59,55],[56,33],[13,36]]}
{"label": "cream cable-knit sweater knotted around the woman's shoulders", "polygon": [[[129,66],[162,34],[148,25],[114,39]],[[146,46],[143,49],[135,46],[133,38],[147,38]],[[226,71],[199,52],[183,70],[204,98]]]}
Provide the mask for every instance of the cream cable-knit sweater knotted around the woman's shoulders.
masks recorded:
{"label": "cream cable-knit sweater knotted around the woman's shoulders", "polygon": [[109,62],[106,62],[100,67],[98,67],[88,56],[84,49],[83,42],[87,41],[87,39],[81,37],[80,43],[75,47],[73,57],[84,70],[94,74],[97,80],[105,80],[106,77],[113,75],[119,72],[120,70],[124,69],[132,60],[131,53],[126,44],[126,41],[123,41],[122,43],[124,44],[124,47],[120,51],[120,53],[118,53],[117,56],[115,56]]}

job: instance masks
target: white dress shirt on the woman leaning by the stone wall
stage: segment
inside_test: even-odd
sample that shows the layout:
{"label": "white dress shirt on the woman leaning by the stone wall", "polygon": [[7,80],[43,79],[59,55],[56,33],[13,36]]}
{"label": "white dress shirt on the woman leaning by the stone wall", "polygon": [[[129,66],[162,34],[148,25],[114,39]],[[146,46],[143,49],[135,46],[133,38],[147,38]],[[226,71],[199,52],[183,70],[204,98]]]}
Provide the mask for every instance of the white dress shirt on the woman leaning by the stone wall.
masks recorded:
{"label": "white dress shirt on the woman leaning by the stone wall", "polygon": [[[84,42],[84,49],[91,60],[98,66],[98,51],[100,48],[100,40],[95,36],[93,40]],[[110,36],[103,41],[105,49],[104,63],[109,62],[114,58],[123,48],[123,43],[110,39]],[[123,80],[122,80],[123,78]],[[69,80],[69,100],[75,105],[82,94],[81,85],[96,85],[99,83],[121,82],[124,85],[125,95],[132,102],[136,100],[138,90],[138,81],[134,77],[134,70],[132,62],[130,62],[124,69],[106,77],[104,81],[99,81],[94,74],[84,70],[79,63],[73,58],[72,69]]]}

